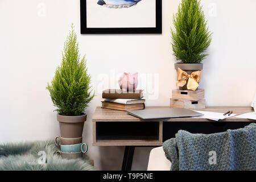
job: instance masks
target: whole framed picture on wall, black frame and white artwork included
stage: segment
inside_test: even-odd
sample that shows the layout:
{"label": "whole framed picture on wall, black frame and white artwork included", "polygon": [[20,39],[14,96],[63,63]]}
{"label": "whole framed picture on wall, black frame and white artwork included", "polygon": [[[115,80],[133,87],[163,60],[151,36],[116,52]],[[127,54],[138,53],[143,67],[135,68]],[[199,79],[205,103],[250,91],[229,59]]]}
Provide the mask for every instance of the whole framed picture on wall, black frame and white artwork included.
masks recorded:
{"label": "whole framed picture on wall, black frame and white artwork included", "polygon": [[80,0],[81,34],[162,34],[162,0]]}

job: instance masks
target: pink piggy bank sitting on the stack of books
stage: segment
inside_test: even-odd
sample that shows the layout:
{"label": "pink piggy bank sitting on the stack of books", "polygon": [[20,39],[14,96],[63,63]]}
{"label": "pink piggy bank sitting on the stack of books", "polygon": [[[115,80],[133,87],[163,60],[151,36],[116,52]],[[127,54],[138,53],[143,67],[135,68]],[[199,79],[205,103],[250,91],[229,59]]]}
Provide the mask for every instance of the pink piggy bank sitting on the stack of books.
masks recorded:
{"label": "pink piggy bank sitting on the stack of books", "polygon": [[123,73],[118,84],[123,91],[135,91],[138,86],[138,73]]}

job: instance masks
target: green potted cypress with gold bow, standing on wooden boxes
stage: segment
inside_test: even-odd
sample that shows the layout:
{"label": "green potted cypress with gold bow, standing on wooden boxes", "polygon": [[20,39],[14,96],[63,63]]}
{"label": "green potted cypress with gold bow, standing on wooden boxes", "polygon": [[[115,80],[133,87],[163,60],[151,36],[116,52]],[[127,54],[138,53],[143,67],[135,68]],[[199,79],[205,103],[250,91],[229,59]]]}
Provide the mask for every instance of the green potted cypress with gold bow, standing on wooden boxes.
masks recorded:
{"label": "green potted cypress with gold bow, standing on wooden boxes", "polygon": [[[192,72],[203,69],[201,62],[208,56],[205,51],[212,41],[212,33],[207,26],[200,0],[182,0],[173,22],[175,30],[171,28],[172,49],[176,60],[180,61],[175,64],[175,69],[180,72],[180,68],[191,76]],[[177,82],[177,86],[182,90],[188,89],[187,82]]]}

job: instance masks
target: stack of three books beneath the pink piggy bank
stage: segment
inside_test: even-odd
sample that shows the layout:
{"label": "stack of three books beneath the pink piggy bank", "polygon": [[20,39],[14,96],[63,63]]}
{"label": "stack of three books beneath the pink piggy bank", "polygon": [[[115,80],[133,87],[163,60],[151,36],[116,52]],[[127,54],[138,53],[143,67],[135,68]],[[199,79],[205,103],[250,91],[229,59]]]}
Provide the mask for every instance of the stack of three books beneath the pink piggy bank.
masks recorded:
{"label": "stack of three books beneath the pink piggy bank", "polygon": [[108,89],[102,92],[104,101],[101,107],[115,110],[141,110],[145,109],[145,100],[143,99],[143,90],[135,92],[125,92],[120,89]]}

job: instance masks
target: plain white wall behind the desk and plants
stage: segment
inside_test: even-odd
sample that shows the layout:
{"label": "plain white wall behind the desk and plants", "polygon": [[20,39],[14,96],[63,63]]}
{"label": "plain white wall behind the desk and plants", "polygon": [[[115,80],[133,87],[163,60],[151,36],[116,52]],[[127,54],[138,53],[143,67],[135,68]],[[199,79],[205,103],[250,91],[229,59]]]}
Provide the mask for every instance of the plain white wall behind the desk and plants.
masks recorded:
{"label": "plain white wall behind the desk and plants", "polygon": [[[86,109],[85,142],[91,146],[91,118],[101,105],[101,76],[114,74],[113,83],[124,71],[156,74],[158,99],[147,105],[168,106],[175,89],[170,27],[179,2],[163,0],[162,35],[80,35],[79,0],[0,0],[0,142],[59,135],[46,84],[60,64],[71,23],[97,93]],[[200,83],[207,105],[249,106],[256,89],[256,1],[204,0],[202,5],[214,32]],[[123,149],[90,147],[89,155],[97,169],[120,169]],[[150,148],[135,150],[133,169],[146,169],[149,152]]]}

